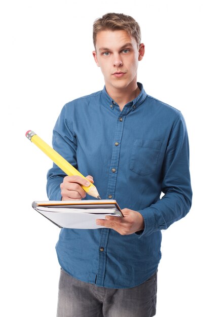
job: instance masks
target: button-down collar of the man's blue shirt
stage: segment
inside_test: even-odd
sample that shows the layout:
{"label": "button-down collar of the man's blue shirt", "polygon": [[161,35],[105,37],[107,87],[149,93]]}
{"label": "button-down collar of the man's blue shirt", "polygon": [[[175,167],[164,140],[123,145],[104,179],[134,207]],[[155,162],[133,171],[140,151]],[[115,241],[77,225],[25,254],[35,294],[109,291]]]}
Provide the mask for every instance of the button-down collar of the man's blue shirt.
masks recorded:
{"label": "button-down collar of the man's blue shirt", "polygon": [[[132,111],[134,111],[146,98],[146,92],[143,89],[143,86],[141,83],[137,83],[138,88],[140,89],[140,94],[133,99],[132,101],[128,102],[125,107],[131,107]],[[117,103],[115,102],[115,100],[113,100],[107,93],[106,88],[104,86],[103,90],[102,90],[102,95],[103,98],[105,100],[105,105],[108,106],[109,108],[114,109],[114,105],[116,105]]]}

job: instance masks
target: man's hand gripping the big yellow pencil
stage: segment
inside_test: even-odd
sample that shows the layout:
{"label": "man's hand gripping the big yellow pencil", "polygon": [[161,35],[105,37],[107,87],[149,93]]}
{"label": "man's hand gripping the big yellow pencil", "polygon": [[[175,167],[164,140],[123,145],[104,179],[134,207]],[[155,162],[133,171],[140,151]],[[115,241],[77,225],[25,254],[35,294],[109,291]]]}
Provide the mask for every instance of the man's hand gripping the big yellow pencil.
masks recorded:
{"label": "man's hand gripping the big yellow pencil", "polygon": [[60,184],[62,201],[81,200],[86,197],[86,191],[81,187],[90,186],[90,183],[94,183],[93,177],[88,175],[86,181],[81,176],[65,176],[63,182]]}

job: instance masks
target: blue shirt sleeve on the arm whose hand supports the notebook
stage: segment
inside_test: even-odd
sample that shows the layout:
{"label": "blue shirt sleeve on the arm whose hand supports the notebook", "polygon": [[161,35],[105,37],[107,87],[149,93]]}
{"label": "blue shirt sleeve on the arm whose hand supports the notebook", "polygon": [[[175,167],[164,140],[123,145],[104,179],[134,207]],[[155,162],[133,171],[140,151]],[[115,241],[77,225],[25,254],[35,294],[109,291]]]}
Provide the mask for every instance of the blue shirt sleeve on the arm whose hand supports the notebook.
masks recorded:
{"label": "blue shirt sleeve on the arm whose hand supports the notebook", "polygon": [[192,204],[192,188],[189,171],[189,141],[187,127],[180,113],[167,143],[162,167],[161,200],[138,212],[144,218],[144,230],[139,237],[167,229],[183,218]]}

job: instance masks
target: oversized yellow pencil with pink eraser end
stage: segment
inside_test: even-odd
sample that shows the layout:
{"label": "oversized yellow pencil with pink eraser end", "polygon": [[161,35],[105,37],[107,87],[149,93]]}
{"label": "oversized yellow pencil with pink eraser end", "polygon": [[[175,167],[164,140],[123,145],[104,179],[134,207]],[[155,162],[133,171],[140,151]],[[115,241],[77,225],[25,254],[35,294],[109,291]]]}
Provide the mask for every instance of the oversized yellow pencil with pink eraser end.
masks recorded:
{"label": "oversized yellow pencil with pink eraser end", "polygon": [[[26,137],[38,146],[45,154],[47,154],[50,159],[68,176],[77,175],[81,176],[88,181],[76,168],[69,164],[57,151],[55,151],[50,145],[48,145],[44,140],[42,140],[33,131],[29,130],[26,132]],[[91,196],[101,199],[97,188],[91,183],[89,187],[81,185],[81,187]]]}

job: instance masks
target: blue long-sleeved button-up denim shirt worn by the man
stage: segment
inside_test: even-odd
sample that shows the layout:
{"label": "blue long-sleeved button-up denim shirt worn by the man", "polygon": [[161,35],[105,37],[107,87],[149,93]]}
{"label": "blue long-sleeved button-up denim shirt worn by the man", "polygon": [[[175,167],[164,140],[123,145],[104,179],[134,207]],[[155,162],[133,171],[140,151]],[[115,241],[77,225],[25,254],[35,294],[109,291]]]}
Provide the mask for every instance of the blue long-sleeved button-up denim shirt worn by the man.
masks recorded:
{"label": "blue long-sleeved button-up denim shirt worn by the man", "polygon": [[[161,230],[191,207],[182,114],[138,87],[140,94],[122,111],[105,88],[67,103],[53,131],[55,150],[83,175],[93,176],[102,199],[117,200],[121,209],[144,218],[144,230],[130,235],[108,228],[61,229],[56,245],[61,267],[78,280],[108,288],[146,281],[161,259]],[[49,170],[50,200],[61,200],[64,176],[55,164]]]}

